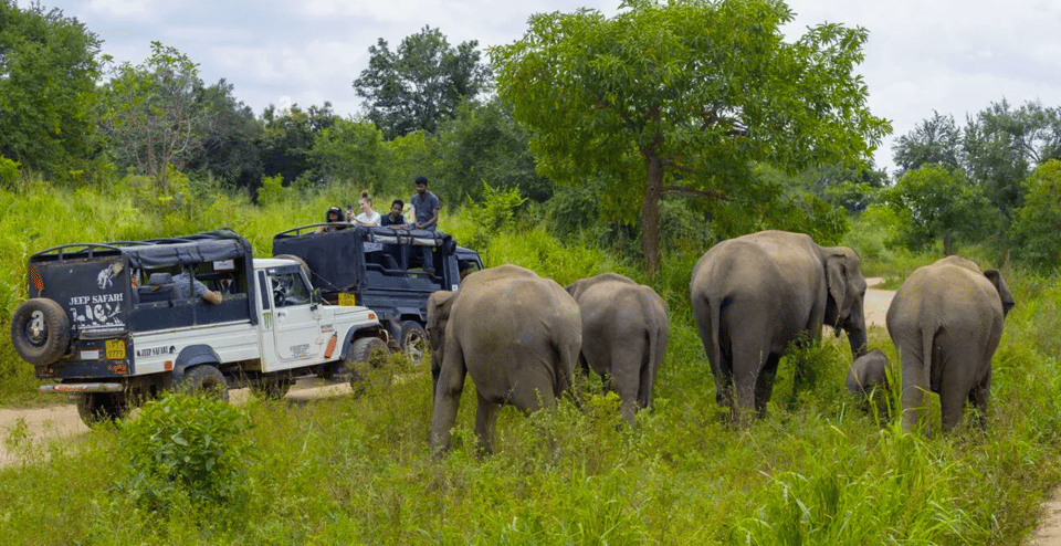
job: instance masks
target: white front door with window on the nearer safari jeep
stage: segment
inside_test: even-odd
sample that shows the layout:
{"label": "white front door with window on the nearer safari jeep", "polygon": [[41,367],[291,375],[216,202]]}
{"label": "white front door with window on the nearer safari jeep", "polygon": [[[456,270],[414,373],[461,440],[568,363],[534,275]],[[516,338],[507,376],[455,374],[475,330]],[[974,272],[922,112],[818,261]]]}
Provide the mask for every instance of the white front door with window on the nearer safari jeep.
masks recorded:
{"label": "white front door with window on the nearer safari jeep", "polygon": [[275,353],[281,368],[323,359],[327,339],[321,333],[321,308],[297,265],[266,272]]}

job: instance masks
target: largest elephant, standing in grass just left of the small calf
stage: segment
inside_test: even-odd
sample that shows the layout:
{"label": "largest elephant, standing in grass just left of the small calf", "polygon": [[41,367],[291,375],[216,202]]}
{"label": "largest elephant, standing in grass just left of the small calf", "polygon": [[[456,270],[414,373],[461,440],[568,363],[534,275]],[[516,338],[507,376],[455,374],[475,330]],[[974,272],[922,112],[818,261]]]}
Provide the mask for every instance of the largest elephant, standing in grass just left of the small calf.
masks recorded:
{"label": "largest elephant, standing in grass just left of the small calf", "polygon": [[852,355],[865,351],[865,279],[847,246],[785,231],[738,237],[700,259],[690,291],[715,397],[738,422],[766,411],[778,361],[801,335],[820,339],[828,324],[847,332]]}

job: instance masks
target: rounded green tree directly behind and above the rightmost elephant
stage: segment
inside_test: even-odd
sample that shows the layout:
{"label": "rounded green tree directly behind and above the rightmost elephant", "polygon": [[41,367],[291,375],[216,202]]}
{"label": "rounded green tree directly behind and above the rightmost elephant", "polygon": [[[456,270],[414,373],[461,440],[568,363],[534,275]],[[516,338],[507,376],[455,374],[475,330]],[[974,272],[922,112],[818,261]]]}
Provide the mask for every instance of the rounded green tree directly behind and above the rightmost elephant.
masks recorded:
{"label": "rounded green tree directly behind and above the rightmost elephant", "polygon": [[943,241],[946,255],[956,252],[957,240],[975,240],[994,232],[998,217],[979,187],[969,183],[960,169],[925,165],[906,171],[884,195],[896,212],[907,214],[903,239],[912,249]]}

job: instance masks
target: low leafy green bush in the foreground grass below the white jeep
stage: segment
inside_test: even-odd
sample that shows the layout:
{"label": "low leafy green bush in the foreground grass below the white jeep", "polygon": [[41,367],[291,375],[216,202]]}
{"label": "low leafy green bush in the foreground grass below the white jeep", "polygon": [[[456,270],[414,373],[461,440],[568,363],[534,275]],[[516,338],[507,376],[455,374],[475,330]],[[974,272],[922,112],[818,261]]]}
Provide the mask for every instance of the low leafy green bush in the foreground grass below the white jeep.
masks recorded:
{"label": "low leafy green bush in the foreground grass below the white jeep", "polygon": [[243,495],[249,441],[246,417],[223,400],[165,393],[144,406],[139,419],[120,421],[129,460],[125,486],[155,507],[187,494],[196,504]]}

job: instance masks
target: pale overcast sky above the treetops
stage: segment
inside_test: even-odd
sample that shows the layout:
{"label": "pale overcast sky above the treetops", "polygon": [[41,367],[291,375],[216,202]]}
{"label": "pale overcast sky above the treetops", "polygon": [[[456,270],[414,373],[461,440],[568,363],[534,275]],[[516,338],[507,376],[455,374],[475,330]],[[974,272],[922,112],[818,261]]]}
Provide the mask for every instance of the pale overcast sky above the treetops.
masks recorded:
{"label": "pale overcast sky above the treetops", "polygon": [[[103,52],[139,64],[153,40],[199,63],[208,84],[225,78],[256,114],[332,103],[340,115],[360,102],[353,81],[379,38],[391,51],[424,25],[451,45],[519,39],[532,13],[579,7],[613,15],[618,0],[42,0],[103,40]],[[22,7],[29,0],[18,0]],[[1005,7],[1001,7],[1005,4]],[[964,125],[990,103],[1061,106],[1061,2],[1057,0],[790,0],[795,36],[821,22],[870,31],[857,69],[870,108],[894,133],[876,154],[892,166],[892,141],[933,112]]]}

